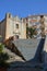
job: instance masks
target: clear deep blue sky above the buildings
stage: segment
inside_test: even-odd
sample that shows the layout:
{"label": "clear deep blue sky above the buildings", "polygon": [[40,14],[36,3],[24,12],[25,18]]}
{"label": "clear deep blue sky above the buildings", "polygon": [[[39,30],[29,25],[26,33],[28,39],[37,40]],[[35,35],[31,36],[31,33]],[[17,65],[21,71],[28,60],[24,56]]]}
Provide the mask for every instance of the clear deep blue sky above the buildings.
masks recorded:
{"label": "clear deep blue sky above the buildings", "polygon": [[3,20],[8,12],[20,17],[46,14],[47,0],[0,0],[0,20]]}

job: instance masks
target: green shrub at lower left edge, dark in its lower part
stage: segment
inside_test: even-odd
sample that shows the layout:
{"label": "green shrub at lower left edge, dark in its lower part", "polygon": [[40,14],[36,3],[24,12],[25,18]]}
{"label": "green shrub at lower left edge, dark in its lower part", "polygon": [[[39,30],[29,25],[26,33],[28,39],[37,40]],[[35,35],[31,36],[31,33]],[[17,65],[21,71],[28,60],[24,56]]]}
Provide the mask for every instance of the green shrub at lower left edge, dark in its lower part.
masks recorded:
{"label": "green shrub at lower left edge, dark in its lower part", "polygon": [[8,67],[9,55],[3,51],[4,45],[0,44],[0,67]]}

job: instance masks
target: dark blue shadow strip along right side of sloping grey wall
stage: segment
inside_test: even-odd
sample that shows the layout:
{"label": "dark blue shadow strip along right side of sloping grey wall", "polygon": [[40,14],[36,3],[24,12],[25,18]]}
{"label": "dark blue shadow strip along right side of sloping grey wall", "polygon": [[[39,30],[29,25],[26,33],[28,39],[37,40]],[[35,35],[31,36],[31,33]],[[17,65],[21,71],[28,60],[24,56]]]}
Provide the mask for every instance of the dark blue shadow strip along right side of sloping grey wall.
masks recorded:
{"label": "dark blue shadow strip along right side of sloping grey wall", "polygon": [[40,39],[40,43],[37,47],[36,54],[35,54],[35,61],[39,61],[43,62],[43,49],[44,49],[44,45],[45,45],[45,38]]}

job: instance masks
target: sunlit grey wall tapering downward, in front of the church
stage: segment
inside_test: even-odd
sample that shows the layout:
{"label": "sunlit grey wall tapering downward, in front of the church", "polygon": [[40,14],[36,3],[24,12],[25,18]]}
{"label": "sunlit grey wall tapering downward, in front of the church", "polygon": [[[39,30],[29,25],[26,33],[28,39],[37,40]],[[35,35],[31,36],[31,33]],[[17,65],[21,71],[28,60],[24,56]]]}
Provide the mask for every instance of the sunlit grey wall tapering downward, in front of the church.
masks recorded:
{"label": "sunlit grey wall tapering downward, in front of the church", "polygon": [[35,57],[40,39],[16,39],[13,44],[26,60]]}

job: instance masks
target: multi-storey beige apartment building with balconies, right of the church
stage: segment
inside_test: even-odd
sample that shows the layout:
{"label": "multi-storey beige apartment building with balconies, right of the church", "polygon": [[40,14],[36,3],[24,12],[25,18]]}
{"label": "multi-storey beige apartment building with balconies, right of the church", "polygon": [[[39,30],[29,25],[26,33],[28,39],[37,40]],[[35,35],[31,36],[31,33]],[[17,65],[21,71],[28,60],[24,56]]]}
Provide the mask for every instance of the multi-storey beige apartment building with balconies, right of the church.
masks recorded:
{"label": "multi-storey beige apartment building with balconies, right of the church", "polygon": [[36,28],[37,35],[36,36],[45,36],[47,35],[47,15],[39,14],[39,15],[30,15],[25,17],[26,25],[28,27]]}

